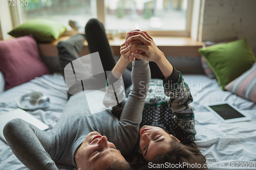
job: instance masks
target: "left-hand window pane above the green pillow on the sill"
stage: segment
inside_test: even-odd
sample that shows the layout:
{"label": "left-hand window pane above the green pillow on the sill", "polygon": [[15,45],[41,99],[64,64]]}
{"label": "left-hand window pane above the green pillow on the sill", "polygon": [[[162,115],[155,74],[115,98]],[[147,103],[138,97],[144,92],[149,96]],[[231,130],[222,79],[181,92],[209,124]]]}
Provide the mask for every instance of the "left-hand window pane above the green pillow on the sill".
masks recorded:
{"label": "left-hand window pane above the green pillow on the sill", "polygon": [[34,18],[45,18],[59,21],[69,28],[69,20],[75,20],[84,27],[90,18],[97,18],[96,0],[28,0],[28,2],[28,6],[20,6],[23,22]]}

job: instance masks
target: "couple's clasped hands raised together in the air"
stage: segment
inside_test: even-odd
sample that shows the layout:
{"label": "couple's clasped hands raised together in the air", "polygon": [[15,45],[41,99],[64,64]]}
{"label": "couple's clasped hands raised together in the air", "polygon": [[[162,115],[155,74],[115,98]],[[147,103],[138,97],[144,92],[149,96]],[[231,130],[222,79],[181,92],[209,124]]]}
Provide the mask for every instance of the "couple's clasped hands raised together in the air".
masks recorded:
{"label": "couple's clasped hands raised together in the air", "polygon": [[164,56],[153,38],[146,31],[141,30],[127,33],[125,42],[121,44],[120,54],[121,58],[129,62],[137,58],[157,63]]}

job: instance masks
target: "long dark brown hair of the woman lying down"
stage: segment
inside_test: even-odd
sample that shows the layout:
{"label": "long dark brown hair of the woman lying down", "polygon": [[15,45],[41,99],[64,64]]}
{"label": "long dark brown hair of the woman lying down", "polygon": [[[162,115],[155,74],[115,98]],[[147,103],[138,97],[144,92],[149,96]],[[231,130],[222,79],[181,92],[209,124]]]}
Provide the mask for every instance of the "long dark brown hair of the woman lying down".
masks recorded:
{"label": "long dark brown hair of the woman lying down", "polygon": [[170,149],[165,154],[158,155],[151,162],[140,160],[140,162],[131,163],[132,168],[141,170],[207,169],[206,159],[197,148],[196,143],[182,144],[178,140],[171,140],[169,145]]}

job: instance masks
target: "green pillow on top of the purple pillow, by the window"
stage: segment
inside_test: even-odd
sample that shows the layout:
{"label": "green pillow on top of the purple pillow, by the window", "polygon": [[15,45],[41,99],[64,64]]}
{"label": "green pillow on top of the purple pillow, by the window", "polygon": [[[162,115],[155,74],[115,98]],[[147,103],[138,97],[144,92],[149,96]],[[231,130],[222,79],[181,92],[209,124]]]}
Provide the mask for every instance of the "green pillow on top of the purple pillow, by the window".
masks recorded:
{"label": "green pillow on top of the purple pillow, by the window", "polygon": [[14,28],[8,34],[22,37],[32,34],[37,42],[51,42],[61,36],[67,28],[61,23],[48,19],[31,19]]}

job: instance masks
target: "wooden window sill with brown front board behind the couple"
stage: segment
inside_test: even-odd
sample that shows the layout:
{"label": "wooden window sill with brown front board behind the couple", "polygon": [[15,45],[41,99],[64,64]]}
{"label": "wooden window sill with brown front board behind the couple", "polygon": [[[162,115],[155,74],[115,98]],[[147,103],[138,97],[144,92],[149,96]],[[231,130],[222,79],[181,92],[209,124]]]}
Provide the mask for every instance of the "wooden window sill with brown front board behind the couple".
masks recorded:
{"label": "wooden window sill with brown front board behind the couple", "polygon": [[[65,41],[70,36],[60,37],[51,43],[39,43],[39,51],[42,57],[56,57],[58,56],[57,43]],[[202,47],[203,42],[194,41],[189,37],[156,37],[153,36],[155,43],[159,50],[161,50],[166,57],[200,57],[198,48]],[[120,56],[120,45],[124,39],[114,37],[109,40],[115,56]],[[79,56],[90,54],[87,41],[84,41],[84,46],[79,53]]]}

